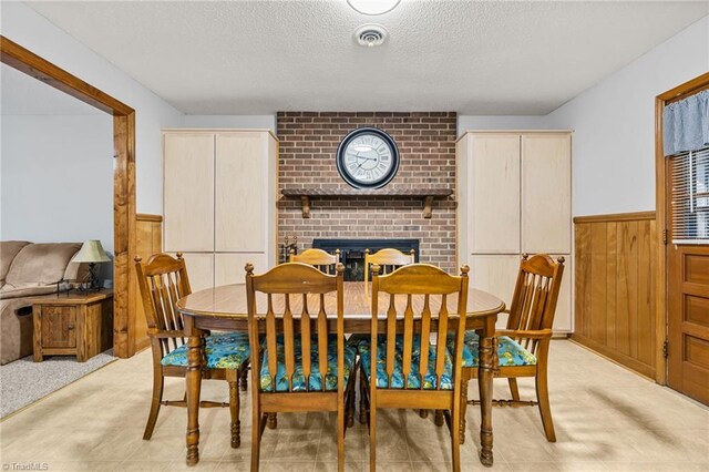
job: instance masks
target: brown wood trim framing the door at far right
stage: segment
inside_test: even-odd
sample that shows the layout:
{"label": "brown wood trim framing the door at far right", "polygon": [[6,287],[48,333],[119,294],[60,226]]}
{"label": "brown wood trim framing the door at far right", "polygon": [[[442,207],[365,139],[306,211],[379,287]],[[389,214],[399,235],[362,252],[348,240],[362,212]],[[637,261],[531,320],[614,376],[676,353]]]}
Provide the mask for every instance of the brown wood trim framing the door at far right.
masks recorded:
{"label": "brown wood trim framing the door at far right", "polygon": [[669,103],[693,95],[705,89],[709,89],[709,72],[706,72],[688,82],[685,82],[655,99],[655,208],[657,228],[657,257],[656,257],[656,376],[655,380],[667,384],[667,359],[662,356],[662,345],[667,338],[667,246],[664,243],[664,234],[667,229],[667,160],[662,145],[662,110]]}

